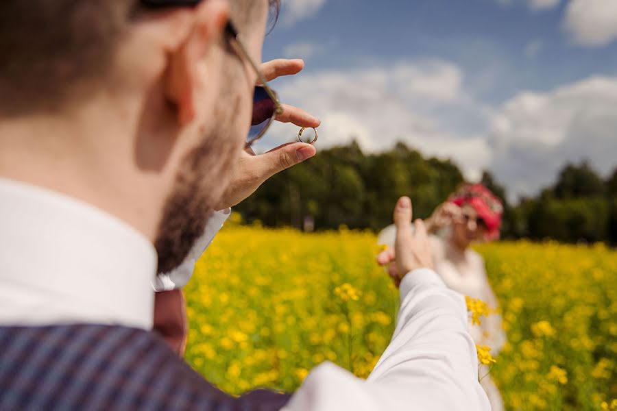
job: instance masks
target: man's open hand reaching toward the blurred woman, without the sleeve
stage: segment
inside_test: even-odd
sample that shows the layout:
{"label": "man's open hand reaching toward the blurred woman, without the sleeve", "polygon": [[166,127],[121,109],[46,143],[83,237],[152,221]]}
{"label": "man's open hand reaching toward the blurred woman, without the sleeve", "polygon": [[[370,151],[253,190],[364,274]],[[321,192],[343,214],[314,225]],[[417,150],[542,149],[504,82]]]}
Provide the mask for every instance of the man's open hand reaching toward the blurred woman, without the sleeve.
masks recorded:
{"label": "man's open hand reaching toward the blurred woman, without the sleeve", "polygon": [[401,197],[394,208],[396,241],[394,249],[379,254],[377,262],[388,264],[388,274],[398,286],[407,273],[415,269],[433,269],[431,245],[422,220],[416,220],[411,232],[412,208],[409,197]]}

